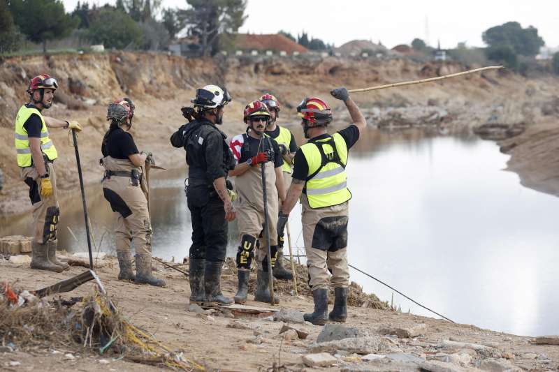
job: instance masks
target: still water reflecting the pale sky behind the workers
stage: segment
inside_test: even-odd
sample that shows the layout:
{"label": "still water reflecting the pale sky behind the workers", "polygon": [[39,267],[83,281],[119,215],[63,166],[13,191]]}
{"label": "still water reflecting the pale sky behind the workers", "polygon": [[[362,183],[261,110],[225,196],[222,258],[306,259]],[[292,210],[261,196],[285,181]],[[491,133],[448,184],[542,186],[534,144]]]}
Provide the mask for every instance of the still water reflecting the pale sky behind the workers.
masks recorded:
{"label": "still water reflecting the pale sky behind the workers", "polygon": [[[559,199],[521,186],[504,171],[507,159],[471,135],[363,135],[347,166],[349,262],[456,322],[559,334]],[[191,243],[185,171],[152,174],[154,255],[177,262]],[[99,185],[87,188],[87,201],[97,246],[114,251]],[[79,194],[61,203],[59,240],[70,251],[87,251],[81,205]],[[299,214],[290,218],[294,246],[303,246]],[[0,219],[0,236],[29,235],[29,220]],[[237,235],[232,223],[229,255]],[[392,301],[392,290],[353,269],[351,280]],[[393,304],[435,316],[395,293]]]}

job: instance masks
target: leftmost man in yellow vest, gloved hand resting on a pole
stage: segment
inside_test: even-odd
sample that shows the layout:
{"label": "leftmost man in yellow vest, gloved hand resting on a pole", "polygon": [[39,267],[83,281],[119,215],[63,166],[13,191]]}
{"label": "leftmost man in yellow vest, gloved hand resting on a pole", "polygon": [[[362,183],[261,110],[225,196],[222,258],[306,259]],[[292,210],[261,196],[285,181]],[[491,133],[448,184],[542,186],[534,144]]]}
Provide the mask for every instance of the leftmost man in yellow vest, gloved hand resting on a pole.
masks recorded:
{"label": "leftmost man in yellow vest, gloved hand resting on a pole", "polygon": [[29,186],[33,204],[33,239],[31,240],[31,268],[61,272],[68,265],[56,258],[57,225],[60,209],[57,200],[55,160],[58,157],[48,128],[81,131],[78,121],[64,121],[43,116],[52,106],[58,82],[41,74],[29,82],[29,103],[20,107],[15,117],[15,151],[20,177]]}

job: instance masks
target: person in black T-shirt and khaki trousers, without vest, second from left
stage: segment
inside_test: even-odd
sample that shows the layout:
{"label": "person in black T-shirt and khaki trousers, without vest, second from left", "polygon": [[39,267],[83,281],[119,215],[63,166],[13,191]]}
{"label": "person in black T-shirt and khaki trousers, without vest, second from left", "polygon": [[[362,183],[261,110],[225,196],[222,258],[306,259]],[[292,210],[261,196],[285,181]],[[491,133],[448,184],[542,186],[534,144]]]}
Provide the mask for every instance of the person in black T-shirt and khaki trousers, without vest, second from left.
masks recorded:
{"label": "person in black T-shirt and khaki trousers, without vest, second from left", "polygon": [[[140,187],[147,151],[138,151],[129,130],[135,106],[130,98],[119,98],[107,107],[108,131],[101,144],[101,165],[105,168],[103,195],[115,212],[115,245],[119,279],[164,286],[152,274],[152,223],[147,195]],[[136,251],[136,275],[132,271],[130,244]]]}

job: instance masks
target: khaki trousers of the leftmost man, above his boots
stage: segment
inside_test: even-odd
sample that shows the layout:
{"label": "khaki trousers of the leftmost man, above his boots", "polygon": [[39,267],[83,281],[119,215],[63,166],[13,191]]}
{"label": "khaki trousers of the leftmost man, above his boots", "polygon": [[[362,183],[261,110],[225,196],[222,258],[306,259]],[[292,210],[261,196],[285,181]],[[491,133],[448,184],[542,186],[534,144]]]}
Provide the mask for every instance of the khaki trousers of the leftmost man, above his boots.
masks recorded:
{"label": "khaki trousers of the leftmost man, above his boots", "polygon": [[52,184],[52,195],[41,196],[41,178],[34,166],[20,168],[21,179],[29,186],[29,199],[33,204],[33,240],[38,244],[57,239],[60,209],[57,199],[57,175],[53,163],[45,163]]}

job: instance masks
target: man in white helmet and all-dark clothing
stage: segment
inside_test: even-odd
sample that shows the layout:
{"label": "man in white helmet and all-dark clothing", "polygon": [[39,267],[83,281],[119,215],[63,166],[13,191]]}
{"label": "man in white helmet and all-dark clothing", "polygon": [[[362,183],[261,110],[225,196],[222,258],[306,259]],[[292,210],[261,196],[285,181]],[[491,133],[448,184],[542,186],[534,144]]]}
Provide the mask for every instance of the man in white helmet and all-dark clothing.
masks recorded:
{"label": "man in white helmet and all-dark clothing", "polygon": [[235,219],[226,186],[228,171],[235,168],[235,160],[225,142],[227,136],[216,126],[223,123],[224,107],[229,102],[227,90],[217,85],[196,89],[196,97],[191,100],[194,110],[190,109],[196,119],[170,137],[174,147],[187,151],[187,204],[192,222],[191,303],[233,302],[222,295],[219,285],[227,248],[227,223]]}

